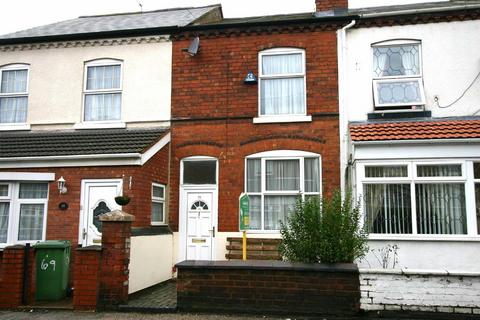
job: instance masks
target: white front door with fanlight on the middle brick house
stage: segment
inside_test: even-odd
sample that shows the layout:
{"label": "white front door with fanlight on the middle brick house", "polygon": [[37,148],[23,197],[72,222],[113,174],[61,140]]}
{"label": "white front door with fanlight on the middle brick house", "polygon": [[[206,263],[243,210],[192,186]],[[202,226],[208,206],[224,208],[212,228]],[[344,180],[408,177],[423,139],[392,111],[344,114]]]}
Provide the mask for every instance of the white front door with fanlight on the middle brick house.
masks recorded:
{"label": "white front door with fanlight on the middle brick house", "polygon": [[211,260],[215,236],[213,191],[186,191],[187,260]]}

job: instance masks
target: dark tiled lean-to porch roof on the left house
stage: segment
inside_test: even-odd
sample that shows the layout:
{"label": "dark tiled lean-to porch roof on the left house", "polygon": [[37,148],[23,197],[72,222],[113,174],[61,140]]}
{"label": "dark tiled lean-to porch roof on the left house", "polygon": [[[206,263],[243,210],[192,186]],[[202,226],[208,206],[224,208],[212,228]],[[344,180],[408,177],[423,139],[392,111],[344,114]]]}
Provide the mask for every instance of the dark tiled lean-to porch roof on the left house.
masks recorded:
{"label": "dark tiled lean-to porch roof on the left house", "polygon": [[5,132],[0,158],[142,153],[166,128]]}

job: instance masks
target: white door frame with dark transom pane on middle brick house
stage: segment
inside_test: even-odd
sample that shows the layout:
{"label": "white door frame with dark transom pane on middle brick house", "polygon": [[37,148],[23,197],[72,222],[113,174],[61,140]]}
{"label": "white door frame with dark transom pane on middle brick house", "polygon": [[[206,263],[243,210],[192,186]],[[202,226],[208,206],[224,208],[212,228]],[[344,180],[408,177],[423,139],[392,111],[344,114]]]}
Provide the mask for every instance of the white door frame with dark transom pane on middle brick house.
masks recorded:
{"label": "white door frame with dark transom pane on middle brick house", "polygon": [[[215,160],[215,181],[216,184],[184,185],[183,184],[183,161]],[[180,160],[180,188],[178,197],[178,231],[179,231],[179,255],[178,262],[187,258],[187,193],[189,192],[212,192],[212,227],[215,234],[218,234],[218,159],[209,156],[193,156]],[[216,237],[212,237],[211,260],[216,260]]]}

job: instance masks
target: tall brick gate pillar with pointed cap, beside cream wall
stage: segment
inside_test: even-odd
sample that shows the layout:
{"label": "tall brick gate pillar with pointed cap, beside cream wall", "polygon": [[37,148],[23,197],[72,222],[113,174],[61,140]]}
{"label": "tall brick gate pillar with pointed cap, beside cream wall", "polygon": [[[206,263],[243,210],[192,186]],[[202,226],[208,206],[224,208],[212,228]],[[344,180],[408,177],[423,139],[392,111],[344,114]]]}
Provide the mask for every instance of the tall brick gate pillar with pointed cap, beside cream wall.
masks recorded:
{"label": "tall brick gate pillar with pointed cap, beside cream wall", "polygon": [[100,216],[102,256],[100,261],[99,304],[117,306],[128,300],[130,236],[135,217],[121,210]]}

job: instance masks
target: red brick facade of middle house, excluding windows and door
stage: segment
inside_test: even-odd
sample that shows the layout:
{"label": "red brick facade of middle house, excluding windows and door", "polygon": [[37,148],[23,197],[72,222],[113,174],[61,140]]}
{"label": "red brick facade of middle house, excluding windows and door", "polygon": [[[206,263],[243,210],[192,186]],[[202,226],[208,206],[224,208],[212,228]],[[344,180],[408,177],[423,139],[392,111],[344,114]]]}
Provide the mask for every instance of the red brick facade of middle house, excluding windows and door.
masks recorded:
{"label": "red brick facade of middle house, excluding windows and door", "polygon": [[[185,157],[219,160],[219,231],[238,231],[238,196],[244,191],[247,155],[285,149],[321,154],[324,192],[339,186],[337,42],[335,28],[326,29],[210,35],[201,37],[201,51],[195,57],[182,52],[190,39],[174,41],[169,220],[173,230],[178,230],[179,170]],[[243,79],[250,70],[258,75],[259,51],[277,47],[305,49],[307,114],[313,116],[312,122],[253,123],[258,86],[245,85]]]}

